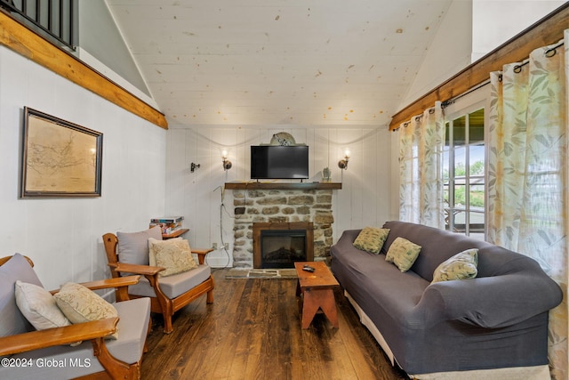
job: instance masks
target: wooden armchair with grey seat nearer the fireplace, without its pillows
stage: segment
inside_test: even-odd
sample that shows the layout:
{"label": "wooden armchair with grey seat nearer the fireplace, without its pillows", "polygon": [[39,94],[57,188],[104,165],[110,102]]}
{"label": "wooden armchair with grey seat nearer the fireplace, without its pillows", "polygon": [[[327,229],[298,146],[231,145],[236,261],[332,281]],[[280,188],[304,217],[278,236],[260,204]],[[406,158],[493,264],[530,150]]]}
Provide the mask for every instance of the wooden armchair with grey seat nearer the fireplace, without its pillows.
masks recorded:
{"label": "wooden armchair with grey seat nearer the fireplace, without its pillows", "polygon": [[[118,278],[124,273],[144,276],[139,284],[129,287],[128,294],[131,298],[150,297],[152,311],[164,316],[164,333],[170,334],[173,331],[172,315],[174,312],[204,294],[207,294],[206,302],[213,303],[213,278],[210,267],[205,264],[205,255],[212,252],[212,249],[192,248],[192,254],[196,254],[198,258],[198,269],[168,277],[159,277],[158,273],[164,271],[164,268],[146,264],[148,263],[148,237],[152,235],[152,232],[149,232],[151,230],[160,229],[119,235],[119,237],[128,235],[128,239],[139,239],[138,247],[140,247],[140,255],[145,256],[144,264],[121,262],[122,257],[118,252],[119,238],[115,234],[103,235],[103,243],[113,278]],[[162,239],[161,235],[160,239]]]}

